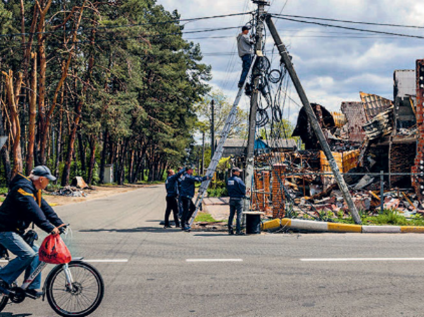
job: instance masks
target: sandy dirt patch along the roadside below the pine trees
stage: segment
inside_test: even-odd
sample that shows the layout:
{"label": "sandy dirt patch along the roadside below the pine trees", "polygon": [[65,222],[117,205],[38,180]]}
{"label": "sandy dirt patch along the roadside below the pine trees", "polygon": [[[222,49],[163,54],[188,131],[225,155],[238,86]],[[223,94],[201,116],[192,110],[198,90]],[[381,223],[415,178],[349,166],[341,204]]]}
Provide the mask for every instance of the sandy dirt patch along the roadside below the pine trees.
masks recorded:
{"label": "sandy dirt patch along the roadside below the pine trees", "polygon": [[[157,184],[155,184],[157,185]],[[63,206],[67,204],[72,204],[75,202],[87,201],[91,199],[108,197],[116,194],[121,194],[123,192],[135,190],[137,188],[153,186],[153,185],[136,185],[136,184],[127,184],[127,185],[107,185],[107,186],[93,186],[93,189],[84,189],[84,192],[87,194],[86,197],[68,197],[68,196],[54,196],[49,195],[48,193],[43,194],[43,198],[50,204],[50,206]]]}

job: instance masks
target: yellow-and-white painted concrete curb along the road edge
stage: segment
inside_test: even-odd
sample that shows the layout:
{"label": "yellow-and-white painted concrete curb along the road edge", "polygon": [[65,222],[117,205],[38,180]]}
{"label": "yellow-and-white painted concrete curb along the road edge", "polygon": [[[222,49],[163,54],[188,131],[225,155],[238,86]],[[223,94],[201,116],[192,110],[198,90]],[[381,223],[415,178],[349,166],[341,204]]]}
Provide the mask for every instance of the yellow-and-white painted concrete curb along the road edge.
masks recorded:
{"label": "yellow-and-white painted concrete curb along the road edge", "polygon": [[424,233],[424,227],[419,226],[372,226],[334,223],[302,219],[273,219],[262,223],[262,230],[281,227],[306,231],[320,232],[354,232],[354,233]]}

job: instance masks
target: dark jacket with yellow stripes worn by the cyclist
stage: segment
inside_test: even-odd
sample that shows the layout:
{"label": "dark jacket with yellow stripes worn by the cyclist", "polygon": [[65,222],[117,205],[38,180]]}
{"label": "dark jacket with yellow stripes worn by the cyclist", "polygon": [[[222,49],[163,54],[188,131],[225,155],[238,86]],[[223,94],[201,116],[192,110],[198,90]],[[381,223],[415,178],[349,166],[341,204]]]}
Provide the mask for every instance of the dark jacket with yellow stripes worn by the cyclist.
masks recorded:
{"label": "dark jacket with yellow stripes worn by the cyclist", "polygon": [[40,229],[50,233],[63,222],[41,198],[32,181],[16,174],[9,185],[9,193],[0,206],[0,231],[23,233],[34,222]]}

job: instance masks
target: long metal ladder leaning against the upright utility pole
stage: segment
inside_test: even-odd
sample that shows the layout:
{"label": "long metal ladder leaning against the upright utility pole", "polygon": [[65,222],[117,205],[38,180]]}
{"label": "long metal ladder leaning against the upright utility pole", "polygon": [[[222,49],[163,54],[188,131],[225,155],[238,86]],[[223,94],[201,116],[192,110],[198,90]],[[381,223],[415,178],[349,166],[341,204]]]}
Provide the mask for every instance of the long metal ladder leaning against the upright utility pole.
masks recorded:
{"label": "long metal ladder leaning against the upright utility pole", "polygon": [[[250,65],[250,69],[249,69],[249,72],[247,73],[246,80],[247,78],[250,77],[250,74],[252,73],[252,69],[255,64],[255,61],[256,61],[256,55],[252,60],[252,64]],[[232,104],[231,111],[229,112],[228,117],[225,121],[225,125],[219,135],[218,145],[216,146],[215,153],[213,153],[211,163],[209,164],[208,170],[206,171],[206,175],[208,176],[212,177],[213,173],[215,172],[216,166],[218,165],[219,159],[221,159],[222,157],[222,152],[224,151],[224,143],[231,130],[231,126],[234,123],[235,116],[237,114],[237,106],[238,106],[238,103],[240,102],[241,96],[243,95],[243,90],[244,90],[244,86],[246,85],[246,80],[244,81],[243,86],[238,89],[238,93],[237,93],[237,96],[235,97],[234,103]],[[205,194],[206,194],[206,190],[208,189],[210,183],[211,183],[211,179],[205,180],[202,182],[202,184],[199,187],[199,192],[196,197],[196,203],[195,203],[196,210],[193,213],[192,218],[190,219],[190,227],[192,226],[193,221],[196,218],[196,215],[200,209],[203,198],[205,197]]]}

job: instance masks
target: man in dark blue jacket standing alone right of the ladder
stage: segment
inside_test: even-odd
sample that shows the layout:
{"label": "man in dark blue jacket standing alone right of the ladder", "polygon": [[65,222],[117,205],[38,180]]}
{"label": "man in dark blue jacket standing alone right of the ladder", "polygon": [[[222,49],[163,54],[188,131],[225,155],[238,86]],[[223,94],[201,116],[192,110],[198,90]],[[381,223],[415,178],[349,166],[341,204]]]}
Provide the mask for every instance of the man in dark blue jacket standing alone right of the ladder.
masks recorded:
{"label": "man in dark blue jacket standing alone right of the ladder", "polygon": [[237,235],[243,235],[241,232],[241,213],[243,211],[243,198],[246,196],[246,185],[240,178],[241,169],[232,168],[232,176],[227,180],[227,191],[229,196],[229,217],[228,217],[228,234],[234,234],[232,222],[234,214],[237,212],[235,231]]}

